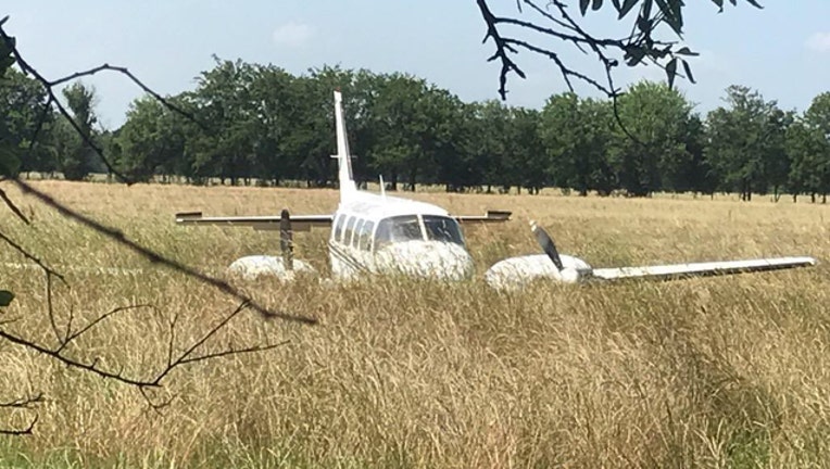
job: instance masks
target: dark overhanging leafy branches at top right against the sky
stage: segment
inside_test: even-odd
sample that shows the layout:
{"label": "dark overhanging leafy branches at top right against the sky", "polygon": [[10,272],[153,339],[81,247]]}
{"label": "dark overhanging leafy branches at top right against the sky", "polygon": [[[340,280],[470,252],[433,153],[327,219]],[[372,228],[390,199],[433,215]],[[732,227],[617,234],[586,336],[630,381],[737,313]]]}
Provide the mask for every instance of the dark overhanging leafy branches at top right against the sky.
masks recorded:
{"label": "dark overhanging leafy branches at top right against the sky", "polygon": [[[724,0],[712,0],[722,12]],[[738,0],[729,0],[732,5]],[[760,9],[756,0],[745,0],[746,3]],[[498,15],[493,13],[488,0],[477,0],[481,17],[487,25],[485,41],[491,39],[495,52],[489,59],[499,61],[499,92],[506,99],[506,81],[511,73],[524,78],[525,73],[511,58],[523,50],[539,54],[553,61],[559,69],[563,79],[570,91],[574,91],[571,80],[583,81],[608,98],[619,96],[619,89],[614,83],[614,69],[622,62],[634,67],[652,63],[665,69],[669,88],[675,77],[682,75],[694,81],[689,63],[683,59],[697,55],[689,47],[682,45],[684,26],[683,0],[579,0],[579,15],[569,7],[576,1],[550,0],[544,7],[536,0],[518,0],[518,15]],[[590,9],[589,9],[590,7]],[[617,37],[595,35],[583,25],[583,18],[591,12],[613,9],[618,20],[629,18],[631,26],[622,30],[629,31]],[[527,11],[530,16],[524,16]],[[663,39],[664,31],[674,35],[677,40]],[[515,34],[515,35],[514,35]],[[606,34],[606,33],[603,33]],[[561,49],[549,45],[570,45],[582,53],[593,55],[602,66],[604,78],[595,78],[593,73],[571,68],[562,59]]]}

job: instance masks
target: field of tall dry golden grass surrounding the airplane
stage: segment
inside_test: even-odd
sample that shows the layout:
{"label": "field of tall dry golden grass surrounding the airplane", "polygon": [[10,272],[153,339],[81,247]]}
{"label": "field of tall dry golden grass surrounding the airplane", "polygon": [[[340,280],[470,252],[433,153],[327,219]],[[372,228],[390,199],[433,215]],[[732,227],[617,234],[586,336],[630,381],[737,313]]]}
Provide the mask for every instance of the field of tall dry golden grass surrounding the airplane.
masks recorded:
{"label": "field of tall dry golden grass surrounding the airplane", "polygon": [[[464,284],[378,280],[351,288],[312,280],[243,282],[235,258],[276,253],[274,232],[178,227],[173,214],[328,213],[332,190],[192,188],[39,181],[36,187],[161,253],[227,278],[269,307],[211,347],[289,341],[274,351],[174,371],[153,392],[68,369],[0,342],[0,401],[45,393],[29,436],[5,438],[0,466],[23,467],[830,467],[830,207],[757,200],[580,199],[545,194],[418,193],[453,213],[514,212],[466,230],[479,276],[538,252],[527,220],[561,250],[598,267],[813,255],[813,269],[665,283],[540,283],[496,294]],[[0,230],[66,275],[58,322],[114,316],[71,352],[137,376],[236,303],[153,265],[2,186],[33,219],[8,210]],[[298,236],[297,255],[328,270],[328,232]],[[43,276],[0,250],[0,287],[18,296],[5,330],[54,334]],[[141,269],[98,274],[97,266]],[[51,341],[51,342],[50,342]],[[9,424],[32,414],[7,410]]]}

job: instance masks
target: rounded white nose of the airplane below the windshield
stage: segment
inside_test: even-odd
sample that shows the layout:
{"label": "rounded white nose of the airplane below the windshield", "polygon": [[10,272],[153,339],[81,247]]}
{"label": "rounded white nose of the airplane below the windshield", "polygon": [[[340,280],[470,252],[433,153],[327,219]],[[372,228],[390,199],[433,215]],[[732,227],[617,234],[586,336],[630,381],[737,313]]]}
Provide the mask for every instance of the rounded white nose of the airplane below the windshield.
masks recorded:
{"label": "rounded white nose of the airplane below the windshield", "polygon": [[442,281],[473,277],[473,257],[464,246],[440,241],[406,241],[389,244],[376,254],[382,272]]}

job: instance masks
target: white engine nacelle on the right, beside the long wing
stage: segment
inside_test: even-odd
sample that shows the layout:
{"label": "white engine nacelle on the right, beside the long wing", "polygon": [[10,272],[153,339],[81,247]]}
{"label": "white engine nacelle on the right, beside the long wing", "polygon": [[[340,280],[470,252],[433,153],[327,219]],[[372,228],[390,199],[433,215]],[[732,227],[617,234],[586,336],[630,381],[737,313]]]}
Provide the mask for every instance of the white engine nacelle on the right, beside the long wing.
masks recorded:
{"label": "white engine nacelle on the right, beside the long wing", "polygon": [[587,262],[562,254],[559,271],[546,254],[510,257],[500,261],[485,274],[485,281],[496,290],[516,290],[537,279],[577,283],[590,277],[593,269]]}

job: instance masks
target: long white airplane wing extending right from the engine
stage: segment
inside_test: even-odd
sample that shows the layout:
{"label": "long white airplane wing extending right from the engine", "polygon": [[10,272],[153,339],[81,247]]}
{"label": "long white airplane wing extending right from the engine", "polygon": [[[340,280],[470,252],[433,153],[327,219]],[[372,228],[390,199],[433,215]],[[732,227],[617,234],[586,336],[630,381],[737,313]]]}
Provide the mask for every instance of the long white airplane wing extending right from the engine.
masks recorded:
{"label": "long white airplane wing extending right from the engine", "polygon": [[751,271],[780,270],[787,268],[816,265],[813,257],[774,257],[746,261],[705,262],[693,264],[671,264],[643,267],[595,268],[593,277],[604,280],[621,279],[678,279],[688,277],[707,277]]}

